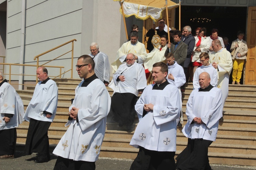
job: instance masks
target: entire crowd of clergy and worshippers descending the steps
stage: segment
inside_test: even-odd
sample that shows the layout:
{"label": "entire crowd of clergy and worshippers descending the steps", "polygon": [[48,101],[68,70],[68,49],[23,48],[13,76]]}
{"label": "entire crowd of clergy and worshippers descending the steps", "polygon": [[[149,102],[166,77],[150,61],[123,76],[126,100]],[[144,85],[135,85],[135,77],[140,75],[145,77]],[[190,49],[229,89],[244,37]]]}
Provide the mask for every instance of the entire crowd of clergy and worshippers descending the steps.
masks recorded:
{"label": "entire crowd of clergy and worshippers descending the steps", "polygon": [[[133,25],[130,40],[116,53],[111,66],[108,56],[91,43],[90,54],[78,58],[76,71],[82,79],[69,107],[67,132],[53,153],[58,155],[54,169],[95,169],[105,134],[106,122],[117,122],[127,132],[134,131],[130,145],[139,148],[130,169],[211,169],[208,147],[216,140],[218,122],[232,84],[240,84],[247,45],[239,31],[231,45],[212,29],[170,29],[163,19],[152,26],[145,45],[138,41],[138,26]],[[168,42],[168,33],[171,40]],[[151,43],[155,32],[157,47]],[[232,51],[230,53],[230,51]],[[29,121],[25,155],[38,153],[35,163],[48,162],[48,129],[56,115],[58,88],[45,67],[37,69],[40,82],[24,113],[22,100],[0,73],[0,159],[14,158],[16,127]],[[182,126],[182,98],[186,82],[193,82],[187,105],[187,123],[182,129],[187,147],[177,156],[176,129]],[[112,98],[105,86],[114,90]],[[8,95],[7,95],[8,93]],[[138,95],[141,94],[138,99]],[[108,117],[107,117],[108,116]],[[7,145],[8,143],[8,145]]]}

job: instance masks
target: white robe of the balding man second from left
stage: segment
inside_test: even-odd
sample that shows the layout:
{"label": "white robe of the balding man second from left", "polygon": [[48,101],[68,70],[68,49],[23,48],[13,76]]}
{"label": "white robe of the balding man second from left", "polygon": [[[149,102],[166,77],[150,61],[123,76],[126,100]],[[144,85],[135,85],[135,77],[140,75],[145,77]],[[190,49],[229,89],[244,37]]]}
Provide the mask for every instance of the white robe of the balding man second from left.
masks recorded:
{"label": "white robe of the balding man second from left", "polygon": [[[45,84],[40,81],[34,90],[32,99],[30,100],[24,119],[30,121],[30,118],[40,121],[53,122],[56,115],[58,104],[58,87],[53,80],[48,80]],[[50,118],[46,117],[43,112],[52,113]]]}

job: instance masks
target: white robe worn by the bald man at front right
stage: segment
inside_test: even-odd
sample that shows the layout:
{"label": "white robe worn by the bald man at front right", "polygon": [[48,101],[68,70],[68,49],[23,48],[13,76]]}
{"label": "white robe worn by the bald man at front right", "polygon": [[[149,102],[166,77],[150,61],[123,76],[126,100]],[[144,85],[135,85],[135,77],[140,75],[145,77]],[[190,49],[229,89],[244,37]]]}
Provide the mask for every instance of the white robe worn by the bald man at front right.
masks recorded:
{"label": "white robe worn by the bald man at front right", "polygon": [[[210,91],[193,90],[187,102],[188,120],[182,129],[183,134],[191,139],[215,141],[222,110],[222,92],[219,88],[213,87]],[[201,118],[203,123],[194,123],[195,117]]]}

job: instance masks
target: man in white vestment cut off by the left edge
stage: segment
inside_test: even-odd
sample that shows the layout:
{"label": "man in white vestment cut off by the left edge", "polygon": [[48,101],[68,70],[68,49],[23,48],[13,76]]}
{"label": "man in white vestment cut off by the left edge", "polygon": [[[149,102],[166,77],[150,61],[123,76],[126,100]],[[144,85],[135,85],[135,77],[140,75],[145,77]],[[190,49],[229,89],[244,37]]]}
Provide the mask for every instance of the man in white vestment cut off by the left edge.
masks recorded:
{"label": "man in white vestment cut off by the left edge", "polygon": [[16,147],[16,127],[24,121],[24,106],[16,90],[0,72],[0,159],[13,159]]}

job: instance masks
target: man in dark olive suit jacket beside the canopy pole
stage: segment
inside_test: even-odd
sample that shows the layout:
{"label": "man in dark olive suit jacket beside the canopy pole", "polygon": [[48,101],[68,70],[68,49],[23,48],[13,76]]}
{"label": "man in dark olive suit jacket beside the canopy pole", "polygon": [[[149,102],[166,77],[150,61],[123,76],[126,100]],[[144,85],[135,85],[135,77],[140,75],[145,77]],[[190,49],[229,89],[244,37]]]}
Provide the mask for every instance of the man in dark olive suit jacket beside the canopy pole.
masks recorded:
{"label": "man in dark olive suit jacket beside the canopy pole", "polygon": [[173,38],[174,38],[174,43],[173,44],[168,43],[167,45],[168,48],[165,54],[169,53],[169,47],[171,47],[171,53],[173,53],[175,61],[180,66],[183,66],[187,56],[187,45],[183,43],[181,40],[180,30],[173,31]]}

